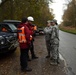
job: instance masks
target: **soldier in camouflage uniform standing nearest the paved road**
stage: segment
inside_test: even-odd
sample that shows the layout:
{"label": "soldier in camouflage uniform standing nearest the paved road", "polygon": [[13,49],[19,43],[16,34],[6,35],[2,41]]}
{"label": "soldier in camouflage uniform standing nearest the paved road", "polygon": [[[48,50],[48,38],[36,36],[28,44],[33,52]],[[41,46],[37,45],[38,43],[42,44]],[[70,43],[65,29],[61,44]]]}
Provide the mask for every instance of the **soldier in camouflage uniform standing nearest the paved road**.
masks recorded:
{"label": "soldier in camouflage uniform standing nearest the paved road", "polygon": [[51,21],[52,31],[51,31],[51,64],[56,65],[59,63],[59,29],[54,20]]}

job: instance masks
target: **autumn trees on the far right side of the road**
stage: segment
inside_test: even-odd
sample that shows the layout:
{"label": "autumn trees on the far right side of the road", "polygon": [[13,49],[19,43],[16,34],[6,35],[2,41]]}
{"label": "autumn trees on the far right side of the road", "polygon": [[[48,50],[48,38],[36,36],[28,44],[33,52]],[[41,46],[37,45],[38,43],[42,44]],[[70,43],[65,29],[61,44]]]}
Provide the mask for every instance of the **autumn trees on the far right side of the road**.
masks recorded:
{"label": "autumn trees on the far right side of the road", "polygon": [[76,1],[72,0],[64,11],[63,24],[76,27]]}

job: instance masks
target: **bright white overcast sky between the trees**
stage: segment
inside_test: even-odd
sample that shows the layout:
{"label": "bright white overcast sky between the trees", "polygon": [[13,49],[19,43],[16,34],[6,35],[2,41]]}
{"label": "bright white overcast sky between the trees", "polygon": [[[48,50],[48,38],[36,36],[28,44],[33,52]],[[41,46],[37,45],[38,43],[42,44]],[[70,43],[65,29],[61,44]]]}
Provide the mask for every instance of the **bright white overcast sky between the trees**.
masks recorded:
{"label": "bright white overcast sky between the trees", "polygon": [[62,21],[64,4],[66,4],[65,0],[54,0],[54,3],[49,5],[50,8],[53,9],[53,13],[55,14],[55,19],[58,20],[58,23]]}

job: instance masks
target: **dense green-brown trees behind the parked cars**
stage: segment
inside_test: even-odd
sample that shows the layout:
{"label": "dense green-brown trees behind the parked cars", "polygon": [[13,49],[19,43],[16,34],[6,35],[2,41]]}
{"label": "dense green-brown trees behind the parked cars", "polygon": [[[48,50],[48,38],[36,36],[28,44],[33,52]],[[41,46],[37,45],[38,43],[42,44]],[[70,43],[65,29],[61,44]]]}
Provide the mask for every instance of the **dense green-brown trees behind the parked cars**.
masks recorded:
{"label": "dense green-brown trees behind the parked cars", "polygon": [[33,16],[36,25],[44,26],[48,19],[54,18],[48,7],[49,1],[5,0],[5,3],[0,6],[0,21],[4,19],[21,20],[22,17]]}

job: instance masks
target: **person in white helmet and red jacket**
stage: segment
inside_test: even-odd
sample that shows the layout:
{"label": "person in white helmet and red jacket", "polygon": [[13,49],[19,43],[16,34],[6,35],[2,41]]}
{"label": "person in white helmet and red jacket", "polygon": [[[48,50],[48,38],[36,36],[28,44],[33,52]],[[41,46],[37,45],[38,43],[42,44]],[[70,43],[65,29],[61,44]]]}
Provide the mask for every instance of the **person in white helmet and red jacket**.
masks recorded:
{"label": "person in white helmet and red jacket", "polygon": [[[32,37],[31,46],[30,46],[29,50],[31,52],[31,58],[32,59],[37,59],[38,57],[35,55],[34,44],[33,44],[33,42],[34,42],[34,25],[32,24],[32,22],[34,21],[34,18],[29,16],[27,19],[28,19],[27,27],[29,28],[30,36]],[[29,58],[29,52],[28,52],[28,58]],[[30,61],[30,58],[29,58],[29,61]]]}

